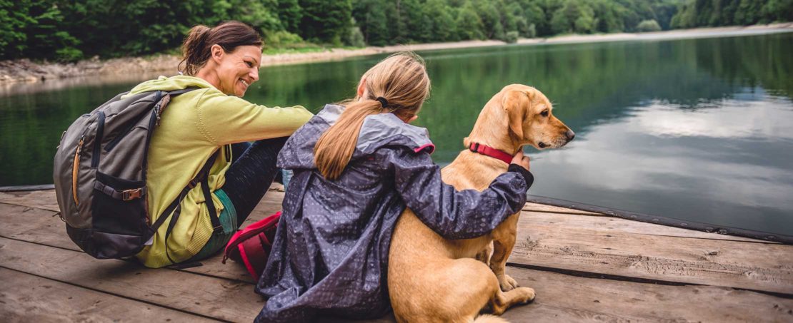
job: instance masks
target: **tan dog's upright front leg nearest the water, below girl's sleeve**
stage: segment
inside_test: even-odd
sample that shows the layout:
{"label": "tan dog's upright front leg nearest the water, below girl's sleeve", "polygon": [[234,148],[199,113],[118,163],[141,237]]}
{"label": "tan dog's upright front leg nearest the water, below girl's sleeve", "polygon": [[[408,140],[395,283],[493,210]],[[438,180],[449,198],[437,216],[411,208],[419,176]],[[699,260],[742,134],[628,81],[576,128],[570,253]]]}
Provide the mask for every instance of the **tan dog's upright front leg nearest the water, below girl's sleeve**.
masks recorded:
{"label": "tan dog's upright front leg nearest the water, below girl's sleeve", "polygon": [[490,257],[490,269],[496,274],[501,291],[511,291],[518,287],[518,282],[504,273],[504,266],[507,265],[507,258],[515,247],[515,239],[518,234],[519,214],[512,215],[501,223],[496,230],[493,230],[493,252]]}

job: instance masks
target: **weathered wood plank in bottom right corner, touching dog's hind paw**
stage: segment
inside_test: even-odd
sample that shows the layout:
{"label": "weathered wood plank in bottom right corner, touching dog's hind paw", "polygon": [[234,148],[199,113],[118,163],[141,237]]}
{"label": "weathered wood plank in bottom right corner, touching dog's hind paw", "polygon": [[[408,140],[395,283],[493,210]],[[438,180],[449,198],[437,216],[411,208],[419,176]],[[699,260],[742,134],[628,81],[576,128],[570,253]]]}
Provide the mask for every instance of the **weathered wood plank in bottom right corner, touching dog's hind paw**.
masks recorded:
{"label": "weathered wood plank in bottom right corner, touching dog's hind paw", "polygon": [[726,287],[665,286],[507,268],[537,298],[503,315],[534,321],[793,321],[793,300]]}

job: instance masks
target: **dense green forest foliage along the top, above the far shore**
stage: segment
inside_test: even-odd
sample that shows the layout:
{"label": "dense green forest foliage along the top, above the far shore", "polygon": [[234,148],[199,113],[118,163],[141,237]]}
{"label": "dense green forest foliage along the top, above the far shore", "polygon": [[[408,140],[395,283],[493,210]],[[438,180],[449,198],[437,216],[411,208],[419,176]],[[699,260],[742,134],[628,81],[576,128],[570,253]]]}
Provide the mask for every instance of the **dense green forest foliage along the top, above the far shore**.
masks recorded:
{"label": "dense green forest foliage along the top, above the far shore", "polygon": [[255,26],[268,47],[514,42],[793,21],[793,0],[0,0],[0,59],[147,55],[226,20]]}

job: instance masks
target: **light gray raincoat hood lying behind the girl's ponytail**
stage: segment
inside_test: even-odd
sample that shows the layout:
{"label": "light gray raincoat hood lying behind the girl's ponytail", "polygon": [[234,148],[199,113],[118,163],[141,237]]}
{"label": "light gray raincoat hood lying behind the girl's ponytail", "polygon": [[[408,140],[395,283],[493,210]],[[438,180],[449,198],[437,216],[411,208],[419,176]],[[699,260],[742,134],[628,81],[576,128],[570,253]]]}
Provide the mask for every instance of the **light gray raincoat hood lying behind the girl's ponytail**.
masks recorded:
{"label": "light gray raincoat hood lying behind the girl's ponytail", "polygon": [[[315,169],[314,146],[320,135],[339,119],[344,107],[325,105],[286,142],[278,155],[278,167],[284,169]],[[427,128],[405,124],[393,113],[366,116],[358,133],[358,142],[352,159],[372,154],[383,146],[406,146],[415,152],[427,150],[430,154],[435,145],[430,141]]]}

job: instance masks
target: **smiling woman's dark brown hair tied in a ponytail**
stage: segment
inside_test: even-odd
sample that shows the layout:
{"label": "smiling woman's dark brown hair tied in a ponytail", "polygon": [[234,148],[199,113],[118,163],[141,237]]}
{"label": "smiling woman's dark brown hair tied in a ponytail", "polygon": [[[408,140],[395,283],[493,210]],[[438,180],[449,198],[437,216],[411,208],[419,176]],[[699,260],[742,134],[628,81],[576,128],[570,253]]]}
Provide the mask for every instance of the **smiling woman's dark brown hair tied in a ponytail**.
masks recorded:
{"label": "smiling woman's dark brown hair tied in a ponytail", "polygon": [[[197,25],[187,33],[185,41],[182,42],[182,62],[179,62],[178,70],[183,74],[193,76],[212,55],[212,45],[218,44],[225,52],[231,52],[239,46],[262,46],[262,37],[254,28],[239,21],[224,21],[220,25],[209,28],[205,25]],[[182,63],[185,68],[182,70]]]}

